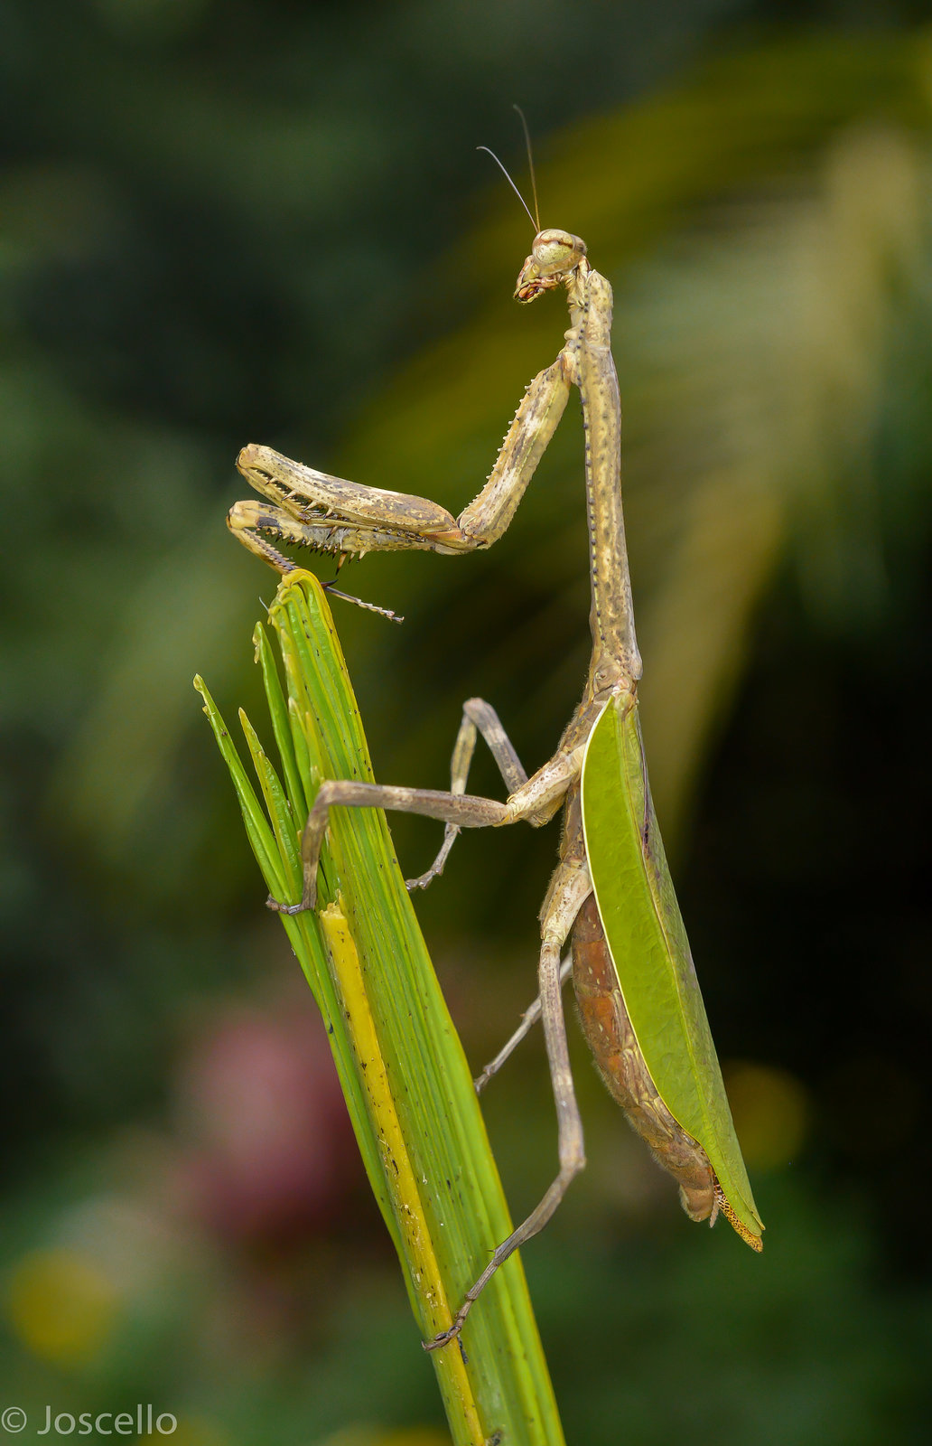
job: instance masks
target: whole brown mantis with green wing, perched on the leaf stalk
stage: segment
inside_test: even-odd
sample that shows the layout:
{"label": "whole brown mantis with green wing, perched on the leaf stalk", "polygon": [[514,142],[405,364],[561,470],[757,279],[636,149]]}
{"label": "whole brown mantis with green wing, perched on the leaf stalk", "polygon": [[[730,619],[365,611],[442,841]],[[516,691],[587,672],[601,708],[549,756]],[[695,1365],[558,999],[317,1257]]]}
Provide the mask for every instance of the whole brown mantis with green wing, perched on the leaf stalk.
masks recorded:
{"label": "whole brown mantis with green wing, perched on the leaf stalk", "polygon": [[[276,541],[337,555],[396,548],[470,552],[496,542],[578,386],[585,425],[592,655],[582,700],[553,756],[530,778],[494,710],[464,704],[449,792],[363,782],[321,785],[303,837],[303,897],[270,907],[312,908],[328,810],[379,807],[446,824],[444,847],[420,879],[444,866],[459,829],[535,827],[564,807],[559,863],[540,910],[539,1001],[558,1118],[559,1173],[527,1219],[497,1248],[467,1291],[449,1330],[458,1335],[491,1274],[553,1215],[585,1164],[561,1001],[561,949],[572,934],[572,973],[582,1028],[603,1079],[634,1129],[679,1184],[683,1209],[712,1223],[721,1210],[738,1235],[761,1248],[757,1215],[734,1135],[689,946],[656,826],[637,723],[642,661],[621,513],[621,409],[611,359],[611,286],[587,259],[579,237],[538,230],[516,298],[533,301],[565,286],[569,330],[552,366],[517,409],[496,466],[474,502],[454,519],[444,508],[303,467],[264,447],[246,447],[238,469],[269,502],[240,502],[230,528],[280,571],[293,564]],[[269,505],[272,503],[272,505]],[[478,735],[509,788],[507,803],[465,792]],[[493,1073],[525,1032],[488,1067]]]}

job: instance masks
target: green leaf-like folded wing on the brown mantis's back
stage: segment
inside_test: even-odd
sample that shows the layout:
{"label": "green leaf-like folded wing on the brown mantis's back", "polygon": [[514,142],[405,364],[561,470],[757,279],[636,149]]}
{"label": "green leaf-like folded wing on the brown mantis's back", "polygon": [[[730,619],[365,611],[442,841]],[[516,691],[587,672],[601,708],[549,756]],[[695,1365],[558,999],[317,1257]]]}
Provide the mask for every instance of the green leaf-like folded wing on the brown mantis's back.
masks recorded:
{"label": "green leaf-like folded wing on the brown mantis's back", "polygon": [[630,694],[608,703],[590,735],[582,824],[598,914],[650,1077],[678,1125],[705,1150],[725,1215],[760,1249],[763,1223],[650,801]]}

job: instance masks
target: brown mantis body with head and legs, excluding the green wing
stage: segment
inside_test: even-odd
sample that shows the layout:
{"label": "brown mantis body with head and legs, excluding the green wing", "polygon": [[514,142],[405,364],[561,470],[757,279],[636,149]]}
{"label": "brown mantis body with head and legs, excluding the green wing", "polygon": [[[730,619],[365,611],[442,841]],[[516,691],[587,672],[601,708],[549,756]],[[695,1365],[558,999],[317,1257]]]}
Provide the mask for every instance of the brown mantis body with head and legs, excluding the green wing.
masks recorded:
{"label": "brown mantis body with head and legs, excluding the green wing", "polygon": [[[459,829],[501,827],[519,820],[539,827],[564,807],[559,862],[540,911],[539,962],[539,1009],[556,1103],[559,1173],[536,1209],[497,1248],[467,1291],[451,1327],[429,1342],[431,1348],[458,1335],[491,1274],[546,1225],[569,1181],[585,1164],[561,999],[561,950],[571,934],[582,1027],[611,1093],[660,1164],[679,1183],[686,1213],[692,1219],[714,1220],[721,1209],[738,1233],[756,1249],[760,1248],[759,1233],[748,1229],[733,1209],[707,1151],[678,1124],[652,1080],[595,907],[582,823],[582,765],[587,743],[608,706],[620,717],[634,714],[642,662],[634,636],[621,513],[621,411],[610,350],[611,286],[590,266],[585,244],[578,237],[561,230],[539,231],[522,268],[516,296],[532,301],[561,285],[566,286],[569,301],[571,325],[565,344],[553,364],[527,388],[488,482],[459,518],[454,519],[444,508],[422,497],[361,487],[314,471],[269,448],[246,447],[238,458],[240,471],[273,505],[240,502],[228,519],[236,535],[280,571],[293,564],[277,551],[276,542],[296,542],[342,555],[397,548],[458,554],[491,547],[512,522],[562,416],[571,388],[579,388],[585,425],[592,654],[582,700],[556,752],[529,778],[494,710],[480,698],[471,698],[464,704],[454,749],[451,791],[325,781],[302,839],[303,897],[296,905],[270,901],[270,907],[288,912],[314,907],[319,849],[328,810],[334,805],[400,810],[444,821],[444,847],[428,873],[415,881],[416,885],[429,882],[442,869]],[[480,733],[509,788],[506,803],[465,792]],[[637,829],[649,846],[653,813],[649,794],[644,798],[644,817]],[[483,1080],[499,1067],[523,1032],[526,1027],[517,1031]]]}

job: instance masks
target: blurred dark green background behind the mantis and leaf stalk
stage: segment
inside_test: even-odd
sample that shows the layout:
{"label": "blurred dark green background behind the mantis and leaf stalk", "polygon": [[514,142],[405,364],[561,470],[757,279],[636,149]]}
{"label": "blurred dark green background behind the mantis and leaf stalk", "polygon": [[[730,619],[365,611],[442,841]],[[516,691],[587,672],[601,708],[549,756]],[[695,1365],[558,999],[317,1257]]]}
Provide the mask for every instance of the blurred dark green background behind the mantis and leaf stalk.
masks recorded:
{"label": "blurred dark green background behind the mantis and leaf stalk", "polygon": [[[191,690],[259,716],[266,442],[454,512],[616,288],[652,782],[767,1245],[699,1231],[575,1043],[590,1168],[525,1251],[568,1439],[928,1440],[932,30],[920,3],[0,4],[0,1406],[185,1446],[436,1446],[327,1044]],[[329,577],[328,565],[319,568]],[[510,534],[344,571],[386,782],[471,694],[529,768],[581,690],[568,409]],[[499,791],[480,759],[477,791]],[[438,842],[393,821],[403,866]],[[462,839],[419,912],[471,1061],[533,993],[555,829]],[[925,886],[923,886],[925,885]],[[539,1040],[487,1118],[555,1164]]]}

